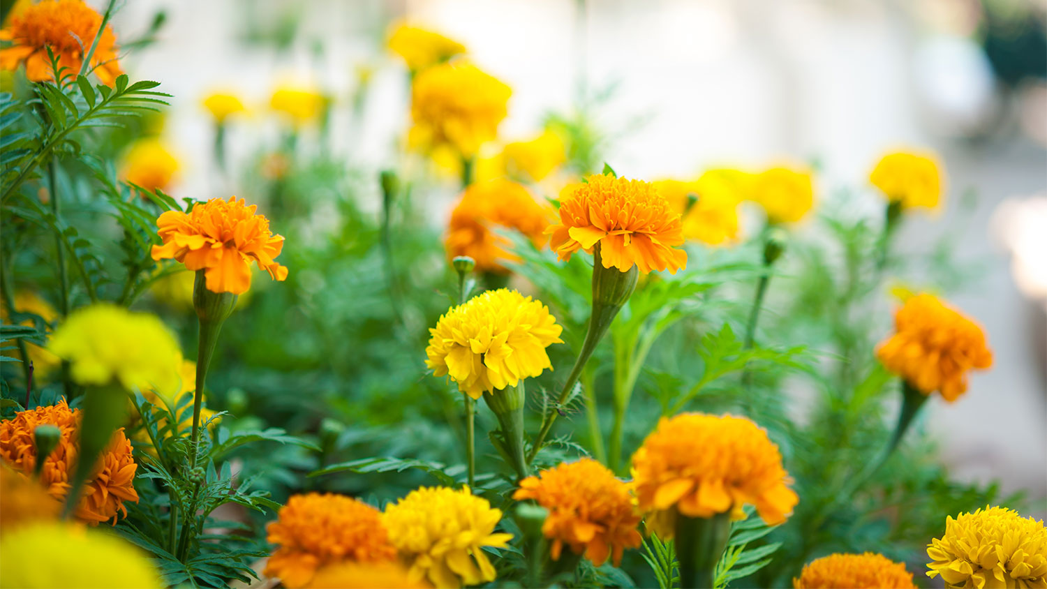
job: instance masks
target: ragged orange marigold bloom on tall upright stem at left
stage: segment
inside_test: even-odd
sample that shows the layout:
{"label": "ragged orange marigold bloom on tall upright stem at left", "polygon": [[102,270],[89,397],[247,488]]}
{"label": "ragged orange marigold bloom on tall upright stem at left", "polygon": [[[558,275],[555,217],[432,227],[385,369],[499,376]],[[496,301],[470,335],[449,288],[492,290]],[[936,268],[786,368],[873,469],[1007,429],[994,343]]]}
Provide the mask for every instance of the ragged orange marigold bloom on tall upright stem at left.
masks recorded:
{"label": "ragged orange marigold bloom on tall upright stem at left", "polygon": [[255,208],[229,197],[197,203],[187,213],[169,210],[156,220],[163,245],[153,246],[153,259],[173,257],[190,270],[204,270],[207,290],[216,293],[246,292],[252,259],[274,280],[284,280],[287,268],[273,260],[284,237],[272,234],[269,220]]}

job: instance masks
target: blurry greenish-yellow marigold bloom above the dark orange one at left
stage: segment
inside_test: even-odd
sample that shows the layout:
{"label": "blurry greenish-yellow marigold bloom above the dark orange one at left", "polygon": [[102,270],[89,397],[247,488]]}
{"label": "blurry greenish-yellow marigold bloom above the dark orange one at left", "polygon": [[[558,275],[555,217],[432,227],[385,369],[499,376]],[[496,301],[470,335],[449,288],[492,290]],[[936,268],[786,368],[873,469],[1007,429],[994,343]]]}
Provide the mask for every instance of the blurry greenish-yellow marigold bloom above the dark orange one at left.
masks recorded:
{"label": "blurry greenish-yellow marigold bloom above the dark orange one at left", "polygon": [[182,354],[175,336],[155,315],[109,303],[73,312],[54,330],[48,349],[71,363],[82,385],[118,382],[124,388],[178,388]]}

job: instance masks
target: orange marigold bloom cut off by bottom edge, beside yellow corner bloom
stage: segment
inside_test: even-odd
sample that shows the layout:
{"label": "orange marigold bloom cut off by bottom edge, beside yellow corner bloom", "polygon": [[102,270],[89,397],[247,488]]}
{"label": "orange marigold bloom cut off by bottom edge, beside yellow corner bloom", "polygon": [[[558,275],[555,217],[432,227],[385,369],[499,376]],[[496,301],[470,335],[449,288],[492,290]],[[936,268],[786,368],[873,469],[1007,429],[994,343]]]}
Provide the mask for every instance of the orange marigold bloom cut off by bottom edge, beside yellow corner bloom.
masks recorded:
{"label": "orange marigold bloom cut off by bottom edge, beside yellow corner bloom", "polygon": [[794,589],[916,589],[913,573],[905,563],[895,563],[883,554],[829,554],[803,567],[800,579],[793,579]]}

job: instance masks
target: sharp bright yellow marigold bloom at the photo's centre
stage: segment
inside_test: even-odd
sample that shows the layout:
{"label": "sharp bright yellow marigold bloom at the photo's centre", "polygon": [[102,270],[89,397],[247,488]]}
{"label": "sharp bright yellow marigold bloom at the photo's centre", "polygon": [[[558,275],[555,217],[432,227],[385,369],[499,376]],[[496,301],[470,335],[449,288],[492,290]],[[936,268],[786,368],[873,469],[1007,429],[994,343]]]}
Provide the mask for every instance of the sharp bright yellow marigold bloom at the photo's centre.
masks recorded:
{"label": "sharp bright yellow marigold bloom at the photo's centre", "polygon": [[476,295],[445,313],[425,348],[432,373],[449,375],[473,399],[553,369],[545,348],[563,343],[549,308],[516,291]]}

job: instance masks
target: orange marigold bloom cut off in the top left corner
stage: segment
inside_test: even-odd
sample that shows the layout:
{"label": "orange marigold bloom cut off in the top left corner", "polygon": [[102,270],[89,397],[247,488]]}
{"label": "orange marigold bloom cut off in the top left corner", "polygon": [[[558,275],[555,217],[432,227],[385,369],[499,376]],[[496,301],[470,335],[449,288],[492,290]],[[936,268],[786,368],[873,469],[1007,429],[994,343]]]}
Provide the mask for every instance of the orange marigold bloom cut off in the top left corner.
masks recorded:
{"label": "orange marigold bloom cut off in the top left corner", "polygon": [[[102,15],[83,0],[44,0],[27,5],[13,13],[0,30],[0,41],[13,42],[10,47],[0,49],[0,69],[13,70],[24,63],[25,75],[32,82],[51,80],[54,72],[47,56],[50,47],[59,67],[69,68],[63,74],[75,76],[84,63],[84,48],[94,41],[101,24]],[[116,62],[118,51],[113,27],[106,25],[90,66],[108,86],[121,73]]]}

